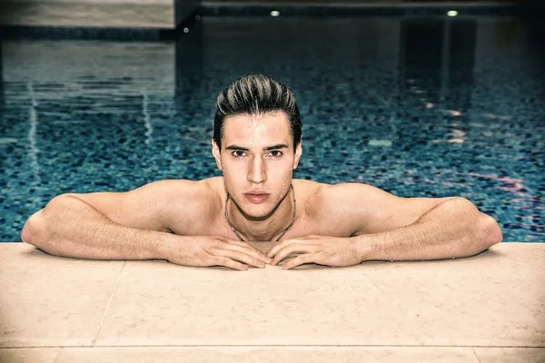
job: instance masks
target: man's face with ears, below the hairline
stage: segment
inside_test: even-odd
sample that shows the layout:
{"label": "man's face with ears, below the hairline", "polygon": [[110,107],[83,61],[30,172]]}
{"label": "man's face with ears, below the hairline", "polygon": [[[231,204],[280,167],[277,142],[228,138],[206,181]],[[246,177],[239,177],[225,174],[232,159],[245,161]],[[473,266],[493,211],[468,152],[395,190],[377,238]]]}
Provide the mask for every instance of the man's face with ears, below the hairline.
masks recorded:
{"label": "man's face with ears, below the hairline", "polygon": [[213,142],[227,191],[247,216],[256,219],[269,216],[286,196],[301,153],[301,143],[293,150],[283,112],[229,116],[223,123],[221,152]]}

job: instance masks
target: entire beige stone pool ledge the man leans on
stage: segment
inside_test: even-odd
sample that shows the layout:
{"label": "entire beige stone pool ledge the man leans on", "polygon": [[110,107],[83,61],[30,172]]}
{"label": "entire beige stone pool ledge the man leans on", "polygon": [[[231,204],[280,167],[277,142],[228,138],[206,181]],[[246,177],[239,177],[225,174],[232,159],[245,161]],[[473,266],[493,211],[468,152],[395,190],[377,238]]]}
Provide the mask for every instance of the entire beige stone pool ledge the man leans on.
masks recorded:
{"label": "entire beige stone pool ledge the man leans on", "polygon": [[0,243],[0,361],[545,361],[544,261],[545,243],[504,242],[235,271]]}

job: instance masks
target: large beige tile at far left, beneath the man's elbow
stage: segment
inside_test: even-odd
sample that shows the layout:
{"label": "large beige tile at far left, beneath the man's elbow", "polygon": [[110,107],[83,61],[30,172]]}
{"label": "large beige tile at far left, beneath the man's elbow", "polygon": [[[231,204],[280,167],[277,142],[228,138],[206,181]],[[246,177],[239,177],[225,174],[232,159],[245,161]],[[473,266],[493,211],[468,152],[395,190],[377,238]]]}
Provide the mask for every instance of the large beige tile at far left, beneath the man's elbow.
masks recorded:
{"label": "large beige tile at far left, beneath the man's elbow", "polygon": [[90,345],[123,265],[0,243],[0,347]]}

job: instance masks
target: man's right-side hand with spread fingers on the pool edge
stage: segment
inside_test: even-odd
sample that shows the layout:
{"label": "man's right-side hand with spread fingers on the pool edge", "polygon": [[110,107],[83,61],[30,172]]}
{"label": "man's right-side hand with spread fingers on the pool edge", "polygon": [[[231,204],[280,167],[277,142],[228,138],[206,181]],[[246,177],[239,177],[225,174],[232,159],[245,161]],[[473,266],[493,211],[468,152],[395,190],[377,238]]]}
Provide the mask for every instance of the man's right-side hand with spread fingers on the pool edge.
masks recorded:
{"label": "man's right-side hand with spread fingers on the pool edge", "polygon": [[298,257],[286,262],[282,269],[288,270],[304,263],[317,263],[326,266],[352,266],[362,262],[362,253],[351,238],[306,236],[293,240],[283,240],[266,253],[274,258],[271,265],[276,265],[292,253]]}

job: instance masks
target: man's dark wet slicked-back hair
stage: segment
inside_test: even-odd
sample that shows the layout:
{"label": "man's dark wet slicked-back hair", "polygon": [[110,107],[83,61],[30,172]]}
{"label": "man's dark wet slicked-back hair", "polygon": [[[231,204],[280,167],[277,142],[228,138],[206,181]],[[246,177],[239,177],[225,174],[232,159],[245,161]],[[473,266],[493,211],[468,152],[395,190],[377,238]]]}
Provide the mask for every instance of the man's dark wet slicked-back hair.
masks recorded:
{"label": "man's dark wet slicked-back hair", "polygon": [[275,111],[283,111],[288,116],[295,149],[301,142],[302,121],[292,90],[263,74],[246,74],[218,95],[213,118],[213,141],[222,150],[223,123],[228,116]]}

